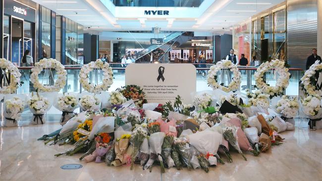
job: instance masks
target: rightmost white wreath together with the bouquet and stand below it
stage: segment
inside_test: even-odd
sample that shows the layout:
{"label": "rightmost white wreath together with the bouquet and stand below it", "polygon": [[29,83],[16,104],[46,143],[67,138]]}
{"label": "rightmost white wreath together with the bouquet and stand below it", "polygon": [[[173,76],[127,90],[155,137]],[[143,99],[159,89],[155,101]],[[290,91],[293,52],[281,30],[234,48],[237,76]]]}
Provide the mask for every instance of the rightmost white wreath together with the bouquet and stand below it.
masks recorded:
{"label": "rightmost white wreath together with the bouquet and stand below it", "polygon": [[301,100],[301,104],[304,114],[306,114],[310,119],[310,129],[315,129],[317,126],[316,122],[322,120],[322,90],[320,90],[317,85],[318,79],[316,77],[316,74],[320,72],[322,72],[322,64],[317,60],[301,78],[302,90],[304,90],[304,94],[306,96]]}

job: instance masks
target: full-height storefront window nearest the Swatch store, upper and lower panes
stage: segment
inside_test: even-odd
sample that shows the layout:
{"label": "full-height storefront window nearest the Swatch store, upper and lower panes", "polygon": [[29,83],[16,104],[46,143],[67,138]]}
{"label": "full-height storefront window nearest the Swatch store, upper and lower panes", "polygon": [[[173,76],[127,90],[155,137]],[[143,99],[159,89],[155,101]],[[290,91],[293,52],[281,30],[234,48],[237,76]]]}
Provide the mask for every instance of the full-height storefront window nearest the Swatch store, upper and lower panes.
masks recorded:
{"label": "full-height storefront window nearest the Swatch store, upper and lower panes", "polygon": [[51,57],[51,10],[41,7],[41,57]]}

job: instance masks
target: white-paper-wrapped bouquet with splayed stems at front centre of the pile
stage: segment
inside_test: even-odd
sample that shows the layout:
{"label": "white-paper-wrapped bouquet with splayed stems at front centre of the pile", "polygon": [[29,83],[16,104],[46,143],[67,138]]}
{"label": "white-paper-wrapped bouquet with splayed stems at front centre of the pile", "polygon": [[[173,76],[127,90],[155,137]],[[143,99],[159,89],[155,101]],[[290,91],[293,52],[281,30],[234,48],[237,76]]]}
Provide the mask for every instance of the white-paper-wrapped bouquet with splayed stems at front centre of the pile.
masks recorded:
{"label": "white-paper-wrapped bouquet with splayed stems at front centre of the pile", "polygon": [[149,145],[150,145],[150,159],[148,160],[147,164],[143,167],[143,169],[152,168],[152,165],[155,160],[158,160],[160,162],[161,166],[161,173],[164,173],[164,165],[163,160],[161,156],[162,152],[162,143],[164,139],[165,134],[162,132],[153,133],[149,137]]}

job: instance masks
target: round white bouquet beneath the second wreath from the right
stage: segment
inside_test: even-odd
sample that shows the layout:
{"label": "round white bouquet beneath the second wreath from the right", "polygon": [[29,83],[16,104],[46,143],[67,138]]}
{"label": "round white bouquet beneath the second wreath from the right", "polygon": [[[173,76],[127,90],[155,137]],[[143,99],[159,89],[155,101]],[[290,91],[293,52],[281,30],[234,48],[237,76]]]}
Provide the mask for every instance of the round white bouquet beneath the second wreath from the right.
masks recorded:
{"label": "round white bouquet beneath the second wreath from the right", "polygon": [[277,101],[276,110],[280,112],[285,118],[293,118],[299,111],[299,103],[295,97],[283,95],[280,100]]}

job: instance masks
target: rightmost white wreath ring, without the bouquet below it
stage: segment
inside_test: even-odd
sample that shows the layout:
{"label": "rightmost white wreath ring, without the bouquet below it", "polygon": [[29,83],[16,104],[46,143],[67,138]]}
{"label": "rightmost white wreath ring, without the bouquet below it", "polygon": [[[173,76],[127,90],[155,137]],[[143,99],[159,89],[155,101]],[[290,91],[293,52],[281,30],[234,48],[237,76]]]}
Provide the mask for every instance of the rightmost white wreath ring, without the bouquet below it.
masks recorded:
{"label": "rightmost white wreath ring, without the bouquet below it", "polygon": [[[319,60],[317,60],[313,65],[310,66],[310,69],[304,73],[304,76],[301,78],[302,88],[304,89],[304,93],[306,95],[313,95],[313,96],[322,96],[322,91],[316,89],[317,79],[315,74],[317,71],[322,69],[322,64]],[[314,79],[314,80],[312,80]],[[312,83],[315,81],[315,83]]]}

